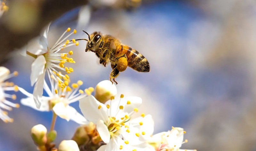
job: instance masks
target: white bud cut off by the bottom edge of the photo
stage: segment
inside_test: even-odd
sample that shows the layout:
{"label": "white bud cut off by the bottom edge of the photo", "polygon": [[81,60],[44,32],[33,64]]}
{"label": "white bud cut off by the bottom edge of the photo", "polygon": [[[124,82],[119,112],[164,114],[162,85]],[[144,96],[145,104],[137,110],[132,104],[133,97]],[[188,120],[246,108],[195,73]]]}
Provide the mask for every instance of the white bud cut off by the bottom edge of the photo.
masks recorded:
{"label": "white bud cut off by the bottom edge of the photo", "polygon": [[79,151],[79,147],[74,140],[62,140],[58,151]]}

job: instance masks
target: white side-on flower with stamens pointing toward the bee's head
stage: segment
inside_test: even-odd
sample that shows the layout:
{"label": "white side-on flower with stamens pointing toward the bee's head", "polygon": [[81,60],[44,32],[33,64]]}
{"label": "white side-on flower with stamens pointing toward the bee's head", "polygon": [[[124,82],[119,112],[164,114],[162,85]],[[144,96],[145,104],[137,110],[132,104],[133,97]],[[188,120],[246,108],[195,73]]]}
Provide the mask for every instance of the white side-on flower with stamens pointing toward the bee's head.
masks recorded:
{"label": "white side-on flower with stamens pointing toward the bee's head", "polygon": [[[78,42],[76,42],[75,39],[70,42],[67,40],[67,38],[71,34],[75,34],[76,30],[74,32],[70,33],[68,36],[62,39],[62,37],[65,35],[66,32],[70,32],[70,28],[68,28],[57,40],[57,42],[52,46],[49,47],[48,41],[47,41],[47,35],[49,30],[48,25],[46,29],[43,31],[43,33],[33,39],[30,40],[27,45],[27,54],[30,56],[33,56],[36,58],[36,60],[32,63],[31,66],[31,86],[33,86],[35,83],[33,95],[34,100],[36,103],[36,107],[40,108],[41,106],[41,97],[43,95],[43,84],[44,84],[44,76],[45,72],[48,73],[48,77],[50,79],[51,75],[54,75],[54,79],[56,81],[61,79],[56,76],[55,73],[58,73],[56,69],[63,70],[67,72],[68,74],[73,72],[72,68],[64,67],[65,62],[75,63],[75,61],[72,58],[68,58],[67,55],[72,55],[73,52],[69,51],[68,53],[58,53],[60,50],[63,50],[66,47],[72,46],[72,45],[78,45]],[[61,40],[62,39],[62,40]],[[60,76],[64,77],[65,75],[62,75],[59,73]],[[62,81],[63,82],[63,81]],[[65,87],[64,84],[62,84],[63,87]]]}

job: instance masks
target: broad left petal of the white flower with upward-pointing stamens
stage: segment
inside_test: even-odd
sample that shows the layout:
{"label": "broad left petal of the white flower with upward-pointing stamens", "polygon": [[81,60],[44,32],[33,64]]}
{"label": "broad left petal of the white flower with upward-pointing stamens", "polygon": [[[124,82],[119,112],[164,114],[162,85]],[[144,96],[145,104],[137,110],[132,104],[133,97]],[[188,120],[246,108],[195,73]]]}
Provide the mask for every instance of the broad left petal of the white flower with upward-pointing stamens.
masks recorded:
{"label": "broad left petal of the white flower with upward-pointing stamens", "polygon": [[41,106],[39,109],[36,107],[35,101],[32,97],[22,98],[20,100],[20,103],[25,106],[29,106],[37,111],[49,111],[49,105],[47,100],[42,100]]}

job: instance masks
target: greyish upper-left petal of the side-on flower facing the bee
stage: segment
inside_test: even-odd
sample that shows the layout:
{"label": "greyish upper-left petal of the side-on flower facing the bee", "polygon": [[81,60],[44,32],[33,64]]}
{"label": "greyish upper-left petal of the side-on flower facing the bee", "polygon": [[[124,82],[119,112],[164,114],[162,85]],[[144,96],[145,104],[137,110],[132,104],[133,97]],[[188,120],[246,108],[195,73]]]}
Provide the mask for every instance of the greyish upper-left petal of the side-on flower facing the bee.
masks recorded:
{"label": "greyish upper-left petal of the side-on flower facing the bee", "polygon": [[47,52],[47,39],[36,37],[28,42],[27,51],[31,54],[40,55]]}

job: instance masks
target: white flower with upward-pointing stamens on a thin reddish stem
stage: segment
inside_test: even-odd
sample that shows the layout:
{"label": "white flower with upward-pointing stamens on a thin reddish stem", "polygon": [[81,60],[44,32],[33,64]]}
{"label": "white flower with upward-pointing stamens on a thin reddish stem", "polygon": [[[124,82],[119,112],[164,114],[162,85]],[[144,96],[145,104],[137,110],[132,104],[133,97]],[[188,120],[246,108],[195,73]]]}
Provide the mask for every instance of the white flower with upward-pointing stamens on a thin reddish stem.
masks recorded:
{"label": "white flower with upward-pointing stamens on a thin reddish stem", "polygon": [[91,93],[93,91],[93,88],[86,89],[85,91],[87,93],[84,93],[83,90],[79,90],[80,85],[83,84],[82,81],[79,80],[77,83],[73,83],[71,87],[69,87],[68,79],[66,77],[63,79],[65,79],[65,88],[62,88],[60,81],[56,82],[53,78],[51,79],[50,88],[44,82],[44,90],[47,92],[49,97],[42,97],[42,105],[40,109],[38,109],[34,103],[33,94],[30,94],[26,90],[19,87],[20,92],[28,96],[27,98],[21,99],[21,104],[32,107],[38,111],[52,110],[62,119],[66,119],[67,121],[71,119],[78,124],[87,124],[88,121],[84,118],[84,116],[78,113],[75,108],[69,106],[69,104],[86,97],[87,93]]}

